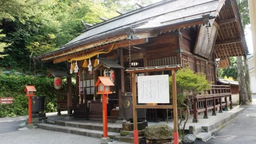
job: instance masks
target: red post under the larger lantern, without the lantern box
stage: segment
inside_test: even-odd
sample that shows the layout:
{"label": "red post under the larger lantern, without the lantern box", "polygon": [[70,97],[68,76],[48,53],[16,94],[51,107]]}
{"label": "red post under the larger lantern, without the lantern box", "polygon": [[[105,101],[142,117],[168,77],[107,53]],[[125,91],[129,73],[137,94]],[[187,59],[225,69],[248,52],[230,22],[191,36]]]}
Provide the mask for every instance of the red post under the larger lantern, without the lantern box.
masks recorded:
{"label": "red post under the larger lantern, without the lantern box", "polygon": [[107,136],[107,95],[102,94],[103,137]]}

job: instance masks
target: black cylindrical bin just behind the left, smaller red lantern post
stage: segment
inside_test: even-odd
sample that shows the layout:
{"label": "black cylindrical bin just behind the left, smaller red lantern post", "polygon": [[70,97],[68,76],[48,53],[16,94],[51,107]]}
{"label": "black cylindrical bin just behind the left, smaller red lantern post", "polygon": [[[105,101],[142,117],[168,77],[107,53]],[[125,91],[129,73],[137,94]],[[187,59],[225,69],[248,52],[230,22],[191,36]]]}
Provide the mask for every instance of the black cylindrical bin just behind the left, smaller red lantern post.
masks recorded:
{"label": "black cylindrical bin just behind the left, smaller red lantern post", "polygon": [[32,113],[45,112],[45,97],[32,97]]}

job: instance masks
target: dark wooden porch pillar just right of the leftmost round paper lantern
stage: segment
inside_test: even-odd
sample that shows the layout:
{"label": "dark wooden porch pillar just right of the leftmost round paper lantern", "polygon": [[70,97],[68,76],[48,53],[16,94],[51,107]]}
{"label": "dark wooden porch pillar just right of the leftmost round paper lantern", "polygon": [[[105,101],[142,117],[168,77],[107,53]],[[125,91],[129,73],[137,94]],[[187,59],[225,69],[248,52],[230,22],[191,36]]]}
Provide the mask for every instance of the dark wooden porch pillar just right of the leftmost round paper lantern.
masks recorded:
{"label": "dark wooden porch pillar just right of the leftmost round paper lantern", "polygon": [[68,116],[73,114],[72,110],[72,75],[70,74],[71,63],[67,62],[67,114]]}

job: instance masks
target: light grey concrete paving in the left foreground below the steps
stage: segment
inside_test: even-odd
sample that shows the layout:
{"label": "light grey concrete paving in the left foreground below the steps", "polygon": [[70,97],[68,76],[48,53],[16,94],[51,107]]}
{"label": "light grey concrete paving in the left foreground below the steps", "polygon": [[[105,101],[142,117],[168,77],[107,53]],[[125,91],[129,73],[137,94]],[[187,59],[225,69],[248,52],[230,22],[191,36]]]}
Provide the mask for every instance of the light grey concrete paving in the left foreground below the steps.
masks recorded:
{"label": "light grey concrete paving in the left foreground below the steps", "polygon": [[[100,144],[99,138],[31,129],[0,134],[0,144]],[[128,144],[112,142],[111,144]]]}

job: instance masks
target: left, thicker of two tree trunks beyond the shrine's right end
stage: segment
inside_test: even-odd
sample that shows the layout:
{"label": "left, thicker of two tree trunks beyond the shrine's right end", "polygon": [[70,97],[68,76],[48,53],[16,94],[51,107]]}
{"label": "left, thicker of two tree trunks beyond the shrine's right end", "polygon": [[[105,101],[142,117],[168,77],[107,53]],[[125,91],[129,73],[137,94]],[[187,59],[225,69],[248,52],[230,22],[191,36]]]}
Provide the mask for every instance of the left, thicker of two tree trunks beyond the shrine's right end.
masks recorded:
{"label": "left, thicker of two tree trunks beyond the shrine's right end", "polygon": [[244,73],[243,73],[243,61],[242,56],[236,57],[237,63],[237,71],[238,71],[238,82],[239,82],[239,97],[241,98],[240,105],[249,105],[249,100],[247,96],[247,90],[244,80]]}

